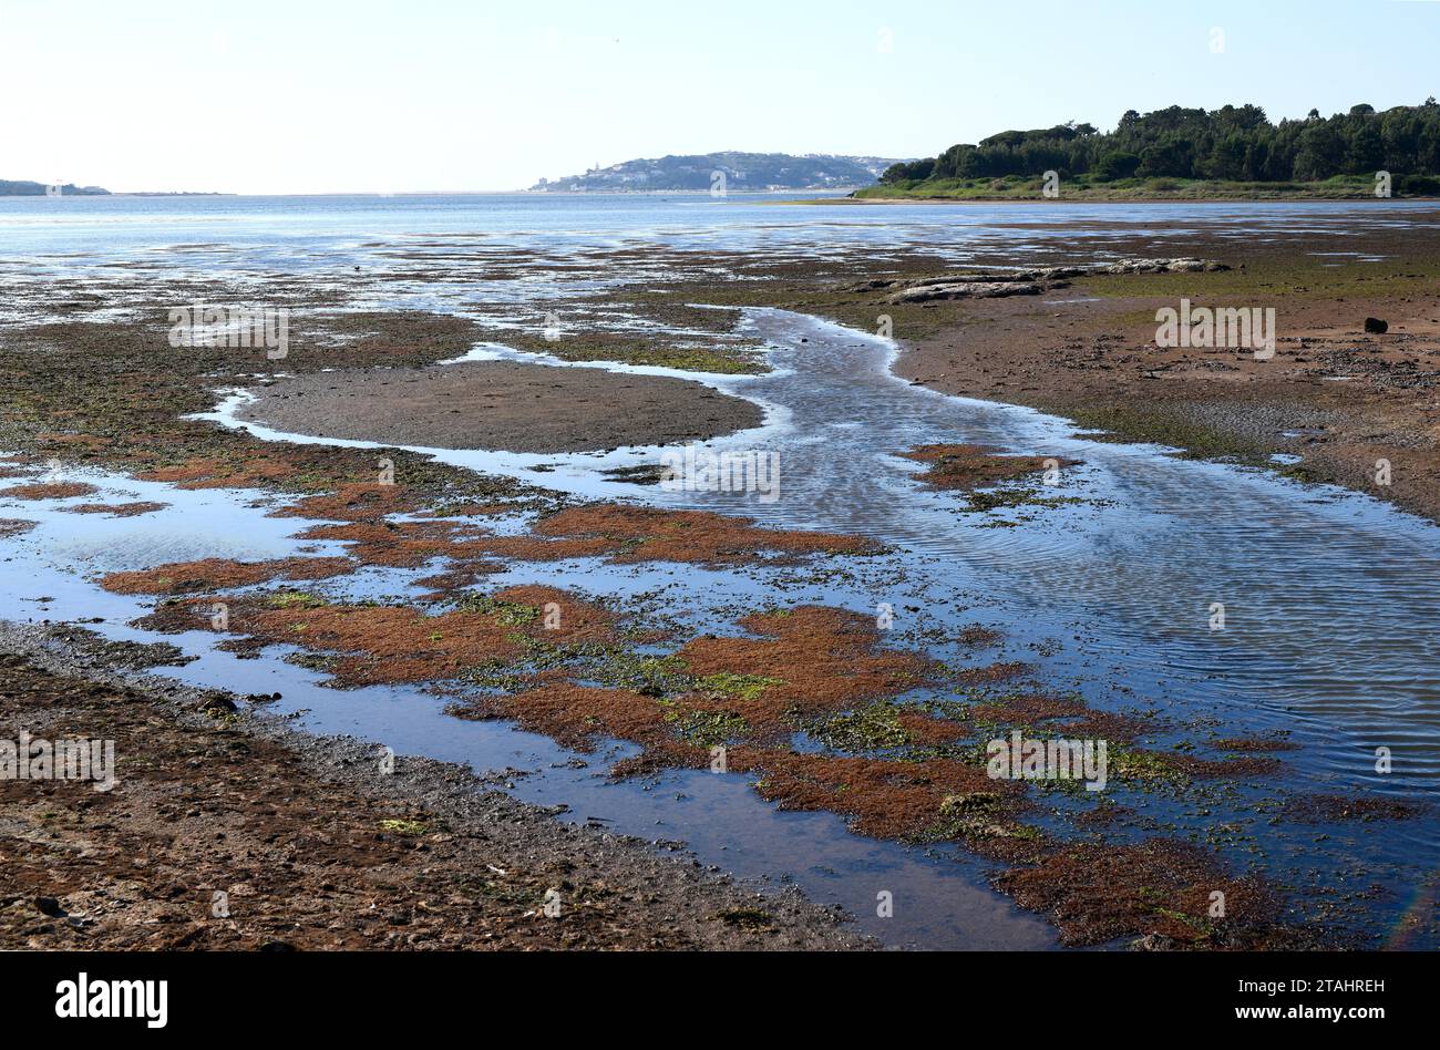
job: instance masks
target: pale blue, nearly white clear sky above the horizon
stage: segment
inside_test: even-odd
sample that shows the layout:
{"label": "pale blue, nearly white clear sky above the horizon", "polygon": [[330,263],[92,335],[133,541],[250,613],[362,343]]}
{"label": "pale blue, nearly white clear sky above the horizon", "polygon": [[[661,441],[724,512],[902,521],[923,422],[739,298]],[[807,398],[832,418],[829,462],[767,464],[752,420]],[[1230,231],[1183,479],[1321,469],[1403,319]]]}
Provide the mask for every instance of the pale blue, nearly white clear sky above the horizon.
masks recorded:
{"label": "pale blue, nearly white clear sky above the horizon", "polygon": [[0,179],[508,190],[665,153],[930,156],[1126,108],[1416,104],[1437,53],[1427,0],[0,0]]}

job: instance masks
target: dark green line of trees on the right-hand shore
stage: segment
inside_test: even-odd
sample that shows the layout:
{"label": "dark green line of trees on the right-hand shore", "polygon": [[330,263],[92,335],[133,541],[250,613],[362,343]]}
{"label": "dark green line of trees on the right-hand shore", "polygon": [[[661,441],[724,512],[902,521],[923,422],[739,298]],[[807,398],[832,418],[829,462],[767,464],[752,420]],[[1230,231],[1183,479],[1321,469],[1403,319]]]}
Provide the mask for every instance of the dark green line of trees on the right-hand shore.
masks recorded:
{"label": "dark green line of trees on the right-hand shore", "polygon": [[[1397,189],[1440,190],[1440,105],[1397,105],[1272,124],[1257,105],[1221,109],[1168,109],[1120,117],[1115,131],[1092,124],[1060,124],[1034,131],[1002,131],[978,145],[960,143],[939,157],[893,164],[881,183],[1089,174],[1225,179],[1237,181],[1318,181],[1332,176],[1390,171]],[[1407,181],[1408,177],[1408,181]]]}

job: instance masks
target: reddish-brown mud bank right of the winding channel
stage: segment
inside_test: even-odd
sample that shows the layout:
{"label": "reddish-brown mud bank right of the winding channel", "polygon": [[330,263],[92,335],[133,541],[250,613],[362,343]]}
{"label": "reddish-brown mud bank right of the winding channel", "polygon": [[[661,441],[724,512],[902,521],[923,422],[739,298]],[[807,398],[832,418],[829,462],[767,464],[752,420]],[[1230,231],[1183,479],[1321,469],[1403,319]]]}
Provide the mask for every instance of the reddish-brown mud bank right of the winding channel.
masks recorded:
{"label": "reddish-brown mud bank right of the winding channel", "polygon": [[[1171,295],[1097,278],[1057,295],[1093,301],[973,302],[909,343],[896,372],[1117,439],[1273,464],[1297,481],[1345,485],[1440,520],[1440,302],[1365,275],[1323,294],[1277,295],[1267,269],[1155,282],[1174,285]],[[1156,346],[1155,313],[1181,298],[1274,307],[1274,356]],[[1367,317],[1390,330],[1367,333]]]}

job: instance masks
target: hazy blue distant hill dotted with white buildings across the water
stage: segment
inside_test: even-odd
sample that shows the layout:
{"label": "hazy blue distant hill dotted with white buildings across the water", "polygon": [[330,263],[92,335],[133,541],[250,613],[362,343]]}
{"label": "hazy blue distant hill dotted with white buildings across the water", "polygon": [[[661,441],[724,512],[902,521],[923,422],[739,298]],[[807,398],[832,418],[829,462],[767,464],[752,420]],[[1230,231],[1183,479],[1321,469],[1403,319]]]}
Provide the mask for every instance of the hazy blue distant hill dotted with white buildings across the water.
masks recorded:
{"label": "hazy blue distant hill dotted with white buildings across the water", "polygon": [[541,179],[531,189],[557,193],[616,190],[708,190],[714,173],[724,171],[726,189],[850,190],[871,186],[897,161],[886,157],[792,157],[785,153],[703,153],[688,157],[628,160],[580,176]]}

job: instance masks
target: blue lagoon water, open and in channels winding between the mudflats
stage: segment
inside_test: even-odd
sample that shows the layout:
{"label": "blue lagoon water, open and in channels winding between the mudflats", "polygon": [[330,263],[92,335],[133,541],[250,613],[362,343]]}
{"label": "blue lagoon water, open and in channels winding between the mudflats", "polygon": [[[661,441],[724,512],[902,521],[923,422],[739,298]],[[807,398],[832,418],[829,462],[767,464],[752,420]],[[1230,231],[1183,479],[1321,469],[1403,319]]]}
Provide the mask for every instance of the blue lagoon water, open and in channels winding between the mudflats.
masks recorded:
{"label": "blue lagoon water, open and in channels winding between the mudflats", "polygon": [[[1107,258],[1115,228],[1151,235],[1164,246],[1156,253],[1179,255],[1187,232],[1200,229],[1223,236],[1263,230],[1276,239],[1326,229],[1344,248],[1344,238],[1361,225],[1434,220],[1433,212],[1398,202],[1060,207],[795,207],[775,197],[680,194],[9,199],[0,200],[0,272],[23,275],[37,288],[58,277],[105,285],[161,272],[226,275],[264,287],[274,275],[324,282],[328,275],[348,278],[359,266],[367,305],[482,314],[487,302],[508,297],[563,298],[589,281],[645,277],[647,248],[785,259],[926,251],[949,261],[1004,256],[1022,264],[1057,252],[1076,261]],[[624,264],[615,262],[616,252],[625,253]],[[482,285],[481,272],[488,275]],[[37,295],[20,313],[42,307]],[[1064,421],[910,386],[890,373],[896,347],[867,333],[763,310],[749,311],[742,326],[769,347],[776,370],[704,380],[760,400],[770,423],[711,448],[779,452],[775,503],[638,490],[598,477],[602,467],[654,459],[657,449],[603,458],[484,449],[436,455],[580,493],[873,536],[897,553],[851,578],[796,586],[788,599],[857,609],[888,603],[916,628],[996,625],[1044,680],[1083,691],[1097,707],[1143,699],[1178,722],[1214,719],[1228,735],[1292,733],[1302,745],[1286,755],[1296,789],[1434,798],[1440,529],[1365,495],[1182,461],[1156,448],[1084,441]],[[478,347],[475,356],[510,353]],[[228,413],[216,418],[236,425]],[[994,527],[995,519],[962,513],[955,495],[916,484],[916,465],[894,455],[940,441],[995,444],[1080,465],[1063,471],[1054,490],[1064,503],[1027,513],[1032,520],[1015,527]],[[541,462],[557,470],[533,472]],[[0,596],[6,608],[20,611],[10,615],[23,615],[43,595],[50,599],[46,616],[104,615],[105,631],[138,637],[120,627],[138,603],[104,595],[86,575],[207,555],[282,556],[300,524],[265,519],[246,507],[245,494],[107,484],[174,510],[89,521],[0,503],[9,517],[42,520],[30,536],[3,542],[10,560],[0,563]],[[366,586],[395,593],[406,585],[382,576]],[[498,582],[511,579],[634,593],[636,601],[661,591],[667,605],[711,625],[720,621],[710,611],[755,603],[763,593],[756,579],[688,567],[524,566]],[[1217,602],[1225,608],[1223,631],[1211,629]],[[1051,943],[1043,923],[985,890],[978,866],[948,851],[857,840],[825,814],[775,814],[734,778],[674,773],[658,785],[608,785],[599,765],[572,769],[570,756],[549,742],[504,726],[459,723],[426,694],[340,694],[278,658],[238,663],[213,651],[213,641],[202,632],[183,635],[180,644],[202,658],[177,676],[242,691],[282,691],[284,709],[308,710],[315,729],[353,732],[402,753],[478,769],[514,766],[527,773],[514,781],[524,798],[564,802],[576,820],[595,817],[632,834],[684,840],[706,861],[742,874],[796,880],[822,900],[844,903],[890,942]],[[1392,750],[1392,773],[1375,772],[1377,748]],[[1248,817],[1246,841],[1263,845],[1269,867],[1295,886],[1323,884],[1335,870],[1362,871],[1390,892],[1374,905],[1378,923],[1394,922],[1410,894],[1434,877],[1440,834],[1433,814],[1403,827],[1341,828],[1322,845],[1313,828],[1256,820],[1266,798],[1263,789],[1246,789],[1217,804],[1215,812],[1156,804],[1155,815],[1197,837]],[[873,906],[865,902],[877,889],[909,900],[909,913],[868,919]]]}

